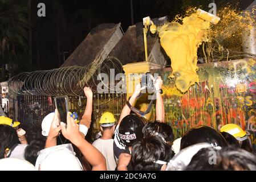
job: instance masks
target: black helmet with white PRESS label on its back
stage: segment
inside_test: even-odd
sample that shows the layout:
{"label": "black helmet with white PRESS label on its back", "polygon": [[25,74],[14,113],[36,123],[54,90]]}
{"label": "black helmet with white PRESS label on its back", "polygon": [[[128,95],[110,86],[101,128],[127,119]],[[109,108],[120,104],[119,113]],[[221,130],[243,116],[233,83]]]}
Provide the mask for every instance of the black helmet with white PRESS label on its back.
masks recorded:
{"label": "black helmet with white PRESS label on its back", "polygon": [[143,138],[142,129],[147,120],[137,114],[124,117],[119,125],[119,138],[126,146],[132,146],[137,140]]}

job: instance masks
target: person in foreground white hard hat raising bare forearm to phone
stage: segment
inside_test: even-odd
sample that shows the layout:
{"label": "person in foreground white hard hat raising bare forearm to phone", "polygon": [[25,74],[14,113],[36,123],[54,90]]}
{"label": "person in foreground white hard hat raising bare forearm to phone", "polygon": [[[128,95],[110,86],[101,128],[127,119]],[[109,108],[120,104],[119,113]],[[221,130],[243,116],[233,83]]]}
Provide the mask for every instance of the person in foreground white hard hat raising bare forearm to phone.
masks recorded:
{"label": "person in foreground white hard hat raising bare forearm to phone", "polygon": [[[74,118],[70,117],[70,113],[67,113],[66,118],[67,123],[60,122],[60,125],[55,128],[56,130],[52,130],[53,132],[50,132],[49,135],[61,130],[63,136],[82,152],[84,158],[91,164],[93,171],[106,170],[104,156],[82,137],[79,125]],[[76,158],[71,144],[61,144],[40,151],[35,167],[40,171],[80,171],[84,169],[79,159]]]}

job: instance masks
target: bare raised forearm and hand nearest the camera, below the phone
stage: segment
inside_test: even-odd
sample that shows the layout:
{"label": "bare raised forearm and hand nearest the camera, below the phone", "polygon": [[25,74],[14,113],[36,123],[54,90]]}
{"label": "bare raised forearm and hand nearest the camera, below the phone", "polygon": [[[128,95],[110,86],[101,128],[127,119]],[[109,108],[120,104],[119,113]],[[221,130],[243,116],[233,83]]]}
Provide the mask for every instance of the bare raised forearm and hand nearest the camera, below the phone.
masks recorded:
{"label": "bare raised forearm and hand nearest the camera, below the phone", "polygon": [[70,140],[82,152],[86,160],[92,165],[92,171],[107,170],[104,156],[92,144],[87,142],[79,133],[79,125],[74,118],[67,114],[67,127],[61,122],[63,136]]}

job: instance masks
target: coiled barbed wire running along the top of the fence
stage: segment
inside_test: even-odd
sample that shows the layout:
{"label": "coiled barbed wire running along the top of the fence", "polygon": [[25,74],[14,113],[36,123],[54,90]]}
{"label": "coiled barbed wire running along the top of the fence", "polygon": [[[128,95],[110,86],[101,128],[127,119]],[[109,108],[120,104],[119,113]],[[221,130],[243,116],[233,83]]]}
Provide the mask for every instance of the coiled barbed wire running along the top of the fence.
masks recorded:
{"label": "coiled barbed wire running along the top of the fence", "polygon": [[[42,96],[83,96],[84,86],[90,86],[97,92],[97,85],[101,82],[101,73],[110,75],[110,69],[115,73],[123,73],[123,65],[116,57],[107,57],[94,73],[87,67],[71,66],[56,68],[47,71],[23,72],[11,77],[8,81],[9,94],[11,95],[42,95]],[[100,78],[100,79],[99,79]],[[109,85],[104,85],[110,90]]]}

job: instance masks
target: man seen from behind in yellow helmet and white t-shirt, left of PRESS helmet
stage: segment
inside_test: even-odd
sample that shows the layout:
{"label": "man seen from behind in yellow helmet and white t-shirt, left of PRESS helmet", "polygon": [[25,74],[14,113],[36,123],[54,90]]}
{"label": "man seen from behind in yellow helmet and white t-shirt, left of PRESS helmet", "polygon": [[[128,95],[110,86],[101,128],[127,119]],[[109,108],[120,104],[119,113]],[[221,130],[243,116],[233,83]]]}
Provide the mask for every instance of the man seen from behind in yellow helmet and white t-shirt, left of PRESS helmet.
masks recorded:
{"label": "man seen from behind in yellow helmet and white t-shirt, left of PRESS helmet", "polygon": [[113,134],[115,132],[115,116],[112,113],[105,112],[100,118],[100,130],[102,137],[95,140],[92,145],[104,155],[108,171],[114,171],[116,168],[116,158],[113,153]]}

